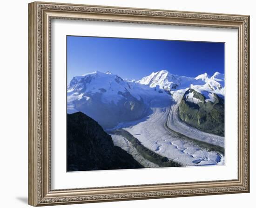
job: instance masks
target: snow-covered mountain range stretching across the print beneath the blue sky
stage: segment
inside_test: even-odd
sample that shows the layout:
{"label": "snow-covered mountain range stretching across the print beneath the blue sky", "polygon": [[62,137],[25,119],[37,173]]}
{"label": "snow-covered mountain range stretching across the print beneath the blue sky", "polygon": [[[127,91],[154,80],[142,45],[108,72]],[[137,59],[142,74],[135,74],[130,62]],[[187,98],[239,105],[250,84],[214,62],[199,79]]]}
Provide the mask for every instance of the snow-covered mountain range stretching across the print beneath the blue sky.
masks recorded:
{"label": "snow-covered mountain range stretching across the print beneath the blue sky", "polygon": [[67,113],[81,111],[104,129],[110,129],[121,122],[143,119],[152,113],[152,108],[168,107],[171,102],[181,103],[183,99],[198,105],[196,93],[184,97],[190,89],[203,96],[202,103],[215,103],[216,96],[224,99],[224,75],[216,72],[212,76],[204,73],[187,77],[160,70],[141,80],[128,80],[110,72],[94,71],[74,76],[68,84]]}

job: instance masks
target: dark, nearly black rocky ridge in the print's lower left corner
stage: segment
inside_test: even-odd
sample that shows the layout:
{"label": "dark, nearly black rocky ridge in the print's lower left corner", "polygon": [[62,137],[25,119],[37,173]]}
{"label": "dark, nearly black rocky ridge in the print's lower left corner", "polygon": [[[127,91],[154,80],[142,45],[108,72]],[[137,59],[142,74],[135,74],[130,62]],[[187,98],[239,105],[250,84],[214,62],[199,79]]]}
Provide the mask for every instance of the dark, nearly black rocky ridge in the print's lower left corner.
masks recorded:
{"label": "dark, nearly black rocky ridge in the print's lower left corner", "polygon": [[84,113],[67,114],[67,171],[143,168]]}

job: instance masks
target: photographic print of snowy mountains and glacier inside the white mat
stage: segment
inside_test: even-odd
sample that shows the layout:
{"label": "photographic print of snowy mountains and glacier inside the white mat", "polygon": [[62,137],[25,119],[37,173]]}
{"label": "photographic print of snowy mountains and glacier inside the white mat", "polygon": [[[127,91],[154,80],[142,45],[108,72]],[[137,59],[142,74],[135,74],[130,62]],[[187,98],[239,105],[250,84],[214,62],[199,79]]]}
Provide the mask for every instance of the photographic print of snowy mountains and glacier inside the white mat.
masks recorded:
{"label": "photographic print of snowy mountains and glacier inside the white mat", "polygon": [[67,36],[67,171],[224,165],[224,43]]}

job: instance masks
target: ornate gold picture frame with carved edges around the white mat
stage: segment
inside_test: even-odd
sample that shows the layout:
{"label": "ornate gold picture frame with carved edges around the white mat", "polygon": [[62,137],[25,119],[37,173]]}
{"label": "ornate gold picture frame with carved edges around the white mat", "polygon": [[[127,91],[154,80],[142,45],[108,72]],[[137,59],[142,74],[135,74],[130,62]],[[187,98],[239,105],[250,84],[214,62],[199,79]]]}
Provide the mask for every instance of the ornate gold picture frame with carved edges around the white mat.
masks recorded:
{"label": "ornate gold picture frame with carved edges around the white mat", "polygon": [[[53,18],[238,29],[238,179],[52,190],[50,57]],[[110,6],[28,4],[28,203],[33,206],[249,192],[249,16]]]}

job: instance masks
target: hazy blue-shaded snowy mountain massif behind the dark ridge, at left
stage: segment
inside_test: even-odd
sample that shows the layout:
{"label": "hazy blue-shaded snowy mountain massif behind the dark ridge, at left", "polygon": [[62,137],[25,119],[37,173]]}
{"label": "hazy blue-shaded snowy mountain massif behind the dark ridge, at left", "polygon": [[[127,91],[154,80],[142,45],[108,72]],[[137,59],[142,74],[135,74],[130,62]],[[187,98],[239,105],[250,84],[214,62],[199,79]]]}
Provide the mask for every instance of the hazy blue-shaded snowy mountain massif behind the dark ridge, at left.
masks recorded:
{"label": "hazy blue-shaded snowy mountain massif behind the dark ridge, at left", "polygon": [[150,111],[153,98],[171,99],[163,90],[95,71],[71,80],[67,88],[67,113],[81,111],[103,128],[112,128],[120,122],[143,118]]}

